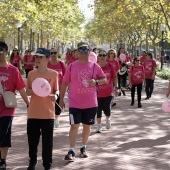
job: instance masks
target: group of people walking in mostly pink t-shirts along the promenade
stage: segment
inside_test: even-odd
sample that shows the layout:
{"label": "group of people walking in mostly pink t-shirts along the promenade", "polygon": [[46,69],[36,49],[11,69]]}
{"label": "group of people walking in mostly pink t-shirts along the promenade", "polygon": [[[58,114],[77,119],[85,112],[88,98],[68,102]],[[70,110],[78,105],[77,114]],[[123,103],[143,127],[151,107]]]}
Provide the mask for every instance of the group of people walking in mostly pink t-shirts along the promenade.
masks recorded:
{"label": "group of people walking in mostly pink t-shirts along the promenade", "polygon": [[[27,136],[29,146],[29,165],[27,170],[35,170],[37,164],[37,147],[42,136],[42,160],[44,170],[52,166],[53,129],[59,127],[59,115],[66,107],[64,96],[69,97],[69,142],[70,148],[65,160],[75,159],[76,139],[82,123],[82,146],[80,157],[87,158],[87,142],[90,127],[95,123],[96,132],[102,132],[102,112],[106,116],[106,129],[111,127],[111,106],[113,95],[125,96],[126,85],[131,87],[131,105],[134,105],[135,87],[137,87],[138,107],[141,108],[141,90],[145,85],[146,99],[152,96],[155,78],[155,60],[151,53],[135,57],[133,62],[123,48],[118,55],[116,50],[98,52],[98,62],[89,61],[88,43],[80,42],[77,49],[66,54],[66,62],[58,59],[55,48],[50,50],[38,48],[34,55],[28,50],[24,56],[27,81],[19,72],[21,57],[17,49],[13,50],[10,63],[6,60],[8,46],[0,42],[0,83],[4,91],[18,90],[26,103],[28,112]],[[120,54],[126,54],[121,60]],[[13,57],[12,57],[13,56]],[[18,59],[18,60],[17,60]],[[141,62],[141,64],[139,64]],[[34,65],[36,68],[34,69]],[[17,68],[16,68],[17,67]],[[129,75],[129,76],[128,76]],[[40,97],[32,90],[36,78],[46,79],[51,86],[48,97]],[[25,90],[26,88],[26,90]],[[11,127],[15,108],[5,107],[3,95],[0,94],[0,169],[6,170],[6,158],[11,147]],[[28,97],[30,96],[30,101]]]}

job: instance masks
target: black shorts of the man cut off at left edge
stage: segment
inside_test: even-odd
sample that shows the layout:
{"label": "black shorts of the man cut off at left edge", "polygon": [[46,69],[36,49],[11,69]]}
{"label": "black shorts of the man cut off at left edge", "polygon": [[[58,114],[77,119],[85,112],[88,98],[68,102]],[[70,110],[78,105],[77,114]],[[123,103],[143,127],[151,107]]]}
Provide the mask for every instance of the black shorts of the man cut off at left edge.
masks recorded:
{"label": "black shorts of the man cut off at left edge", "polygon": [[12,116],[0,117],[0,147],[11,147]]}

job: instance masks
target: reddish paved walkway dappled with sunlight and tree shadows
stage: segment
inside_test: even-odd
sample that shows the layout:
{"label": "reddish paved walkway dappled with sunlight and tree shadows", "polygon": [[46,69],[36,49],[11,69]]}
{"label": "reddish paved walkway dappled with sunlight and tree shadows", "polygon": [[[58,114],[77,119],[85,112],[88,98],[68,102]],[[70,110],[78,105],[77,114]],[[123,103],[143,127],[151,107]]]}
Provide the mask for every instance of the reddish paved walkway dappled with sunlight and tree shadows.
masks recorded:
{"label": "reddish paved walkway dappled with sunlight and tree shadows", "polygon": [[[112,127],[96,134],[92,127],[88,143],[89,158],[77,158],[68,163],[63,160],[69,148],[68,109],[60,116],[61,126],[54,130],[53,170],[170,170],[170,114],[161,109],[166,100],[168,81],[155,81],[154,95],[144,100],[142,108],[130,106],[130,92],[116,98],[112,110]],[[18,98],[18,107],[13,122],[12,143],[7,159],[8,170],[26,170],[28,146],[26,135],[26,106]],[[103,126],[105,125],[103,118]],[[82,128],[80,128],[80,131]],[[80,132],[79,131],[79,132]],[[41,143],[41,142],[40,142]],[[76,153],[79,154],[81,135],[78,135]],[[41,145],[39,146],[36,170],[43,170]]]}

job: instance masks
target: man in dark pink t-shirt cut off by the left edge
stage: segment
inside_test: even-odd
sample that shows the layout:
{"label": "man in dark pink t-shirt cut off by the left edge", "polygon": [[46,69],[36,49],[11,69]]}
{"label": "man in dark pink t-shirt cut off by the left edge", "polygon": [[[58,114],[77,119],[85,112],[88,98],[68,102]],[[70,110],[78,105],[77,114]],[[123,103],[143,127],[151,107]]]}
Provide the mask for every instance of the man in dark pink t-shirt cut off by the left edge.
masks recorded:
{"label": "man in dark pink t-shirt cut off by the left edge", "polygon": [[15,93],[18,90],[26,105],[29,105],[25,93],[25,83],[19,70],[6,61],[8,46],[0,41],[0,169],[6,169],[6,158],[11,147],[11,128],[15,108],[7,108],[3,99],[3,91]]}

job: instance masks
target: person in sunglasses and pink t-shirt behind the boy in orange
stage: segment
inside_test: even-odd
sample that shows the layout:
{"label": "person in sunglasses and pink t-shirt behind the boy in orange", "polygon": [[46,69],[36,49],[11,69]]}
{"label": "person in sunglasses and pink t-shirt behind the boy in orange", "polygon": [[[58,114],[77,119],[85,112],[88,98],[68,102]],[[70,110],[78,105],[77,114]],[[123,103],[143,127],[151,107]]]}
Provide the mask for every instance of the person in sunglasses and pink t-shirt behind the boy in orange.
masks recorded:
{"label": "person in sunglasses and pink t-shirt behind the boy in orange", "polygon": [[[61,87],[62,84],[62,80],[63,80],[63,76],[65,74],[66,71],[66,66],[65,64],[58,60],[58,52],[55,48],[51,48],[50,50],[51,52],[51,56],[50,56],[50,61],[47,64],[47,67],[50,69],[53,69],[55,71],[58,72],[58,77],[59,77],[59,89]],[[60,96],[60,94],[59,94]],[[59,119],[58,116],[61,114],[61,109],[58,106],[60,102],[60,97],[57,98],[56,102],[55,102],[55,127],[58,128],[59,127]]]}

